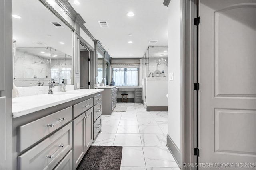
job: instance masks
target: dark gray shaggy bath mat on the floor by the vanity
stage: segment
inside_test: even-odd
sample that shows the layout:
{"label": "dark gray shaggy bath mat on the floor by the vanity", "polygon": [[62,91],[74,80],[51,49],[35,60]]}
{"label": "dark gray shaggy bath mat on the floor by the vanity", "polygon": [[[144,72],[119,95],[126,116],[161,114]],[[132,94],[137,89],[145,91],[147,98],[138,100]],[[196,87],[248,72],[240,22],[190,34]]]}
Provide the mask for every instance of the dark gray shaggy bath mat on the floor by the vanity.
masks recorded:
{"label": "dark gray shaggy bath mat on the floor by the vanity", "polygon": [[123,147],[90,146],[76,170],[120,170]]}

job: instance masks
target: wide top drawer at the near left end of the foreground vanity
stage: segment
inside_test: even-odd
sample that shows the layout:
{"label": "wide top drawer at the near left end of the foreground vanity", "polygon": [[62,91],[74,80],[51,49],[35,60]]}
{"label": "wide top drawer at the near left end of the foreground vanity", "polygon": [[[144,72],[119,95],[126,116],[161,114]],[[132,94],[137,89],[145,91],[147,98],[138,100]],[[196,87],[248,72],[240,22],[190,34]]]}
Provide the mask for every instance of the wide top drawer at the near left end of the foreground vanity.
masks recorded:
{"label": "wide top drawer at the near left end of the foreground vanity", "polygon": [[26,125],[17,127],[17,151],[21,152],[62,125],[72,120],[72,107],[68,107]]}

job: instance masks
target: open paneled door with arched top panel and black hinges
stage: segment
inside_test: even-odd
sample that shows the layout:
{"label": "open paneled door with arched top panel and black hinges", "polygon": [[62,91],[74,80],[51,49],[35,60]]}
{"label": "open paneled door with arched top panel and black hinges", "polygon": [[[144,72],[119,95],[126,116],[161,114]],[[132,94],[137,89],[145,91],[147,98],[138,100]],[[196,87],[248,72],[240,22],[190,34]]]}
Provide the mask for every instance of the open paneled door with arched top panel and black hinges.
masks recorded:
{"label": "open paneled door with arched top panel and black hinges", "polygon": [[199,169],[256,169],[256,0],[200,0]]}

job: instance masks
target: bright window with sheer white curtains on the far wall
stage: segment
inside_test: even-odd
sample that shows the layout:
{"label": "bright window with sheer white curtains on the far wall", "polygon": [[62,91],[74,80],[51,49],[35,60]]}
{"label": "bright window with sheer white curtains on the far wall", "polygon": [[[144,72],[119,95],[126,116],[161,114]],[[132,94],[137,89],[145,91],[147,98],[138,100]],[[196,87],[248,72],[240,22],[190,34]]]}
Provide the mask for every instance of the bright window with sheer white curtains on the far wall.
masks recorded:
{"label": "bright window with sheer white curtains on the far wall", "polygon": [[116,86],[138,86],[139,68],[112,68],[112,78]]}

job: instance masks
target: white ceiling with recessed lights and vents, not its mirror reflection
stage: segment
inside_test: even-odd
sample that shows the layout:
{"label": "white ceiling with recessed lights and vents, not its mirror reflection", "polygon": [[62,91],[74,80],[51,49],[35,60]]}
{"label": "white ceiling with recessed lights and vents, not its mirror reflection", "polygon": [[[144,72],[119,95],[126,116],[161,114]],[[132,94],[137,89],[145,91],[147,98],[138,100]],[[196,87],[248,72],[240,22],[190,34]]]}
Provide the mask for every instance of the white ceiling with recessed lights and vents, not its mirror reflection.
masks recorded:
{"label": "white ceiling with recessed lights and vents, not its mirror reflection", "polygon": [[[86,28],[100,40],[112,58],[141,58],[147,46],[167,46],[167,7],[163,5],[164,0],[78,1],[80,5],[68,0],[86,21]],[[134,12],[133,17],[126,16],[130,11]],[[107,21],[109,27],[101,28],[98,21]],[[158,40],[158,43],[148,44],[150,40]]]}

